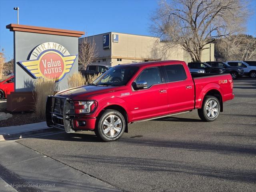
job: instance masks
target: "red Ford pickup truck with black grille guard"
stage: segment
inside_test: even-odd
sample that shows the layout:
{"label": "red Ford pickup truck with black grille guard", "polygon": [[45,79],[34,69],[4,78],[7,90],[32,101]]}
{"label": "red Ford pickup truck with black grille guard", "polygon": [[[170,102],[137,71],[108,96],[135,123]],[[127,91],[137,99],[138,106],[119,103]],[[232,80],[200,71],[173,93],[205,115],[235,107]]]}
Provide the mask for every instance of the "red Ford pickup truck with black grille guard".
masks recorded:
{"label": "red Ford pickup truck with black grille guard", "polygon": [[223,102],[234,98],[232,90],[230,74],[190,74],[184,61],[122,64],[92,84],[48,96],[46,122],[67,133],[91,130],[114,141],[130,123],[194,109],[203,121],[214,121]]}

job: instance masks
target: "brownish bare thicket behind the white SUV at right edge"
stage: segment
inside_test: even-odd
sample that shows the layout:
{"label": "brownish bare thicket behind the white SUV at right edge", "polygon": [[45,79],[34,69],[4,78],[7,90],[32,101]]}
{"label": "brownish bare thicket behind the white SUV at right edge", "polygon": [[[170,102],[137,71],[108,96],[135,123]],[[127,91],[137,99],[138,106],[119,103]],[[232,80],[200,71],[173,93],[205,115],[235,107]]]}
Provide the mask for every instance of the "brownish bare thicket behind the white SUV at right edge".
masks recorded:
{"label": "brownish bare thicket behind the white SUV at right edge", "polygon": [[256,38],[232,35],[215,42],[216,57],[226,60],[256,60]]}

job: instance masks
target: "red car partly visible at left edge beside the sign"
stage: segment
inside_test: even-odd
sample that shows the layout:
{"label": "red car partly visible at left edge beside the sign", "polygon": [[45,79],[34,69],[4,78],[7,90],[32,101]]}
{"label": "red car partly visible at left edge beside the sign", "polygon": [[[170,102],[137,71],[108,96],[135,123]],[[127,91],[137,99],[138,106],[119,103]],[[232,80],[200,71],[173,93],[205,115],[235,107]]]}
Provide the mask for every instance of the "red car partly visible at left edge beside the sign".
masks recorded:
{"label": "red car partly visible at left edge beside the sign", "polygon": [[14,74],[4,76],[0,80],[0,100],[6,98],[8,94],[14,91]]}

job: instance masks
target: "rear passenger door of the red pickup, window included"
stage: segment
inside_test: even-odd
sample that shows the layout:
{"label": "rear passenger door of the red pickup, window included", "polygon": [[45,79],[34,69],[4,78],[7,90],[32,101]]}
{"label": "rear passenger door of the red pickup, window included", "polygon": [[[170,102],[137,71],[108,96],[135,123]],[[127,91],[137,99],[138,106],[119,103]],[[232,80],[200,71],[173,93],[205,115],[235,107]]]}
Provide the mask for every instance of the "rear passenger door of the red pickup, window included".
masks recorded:
{"label": "rear passenger door of the red pickup, window included", "polygon": [[184,64],[163,66],[168,92],[169,114],[194,109],[194,82]]}

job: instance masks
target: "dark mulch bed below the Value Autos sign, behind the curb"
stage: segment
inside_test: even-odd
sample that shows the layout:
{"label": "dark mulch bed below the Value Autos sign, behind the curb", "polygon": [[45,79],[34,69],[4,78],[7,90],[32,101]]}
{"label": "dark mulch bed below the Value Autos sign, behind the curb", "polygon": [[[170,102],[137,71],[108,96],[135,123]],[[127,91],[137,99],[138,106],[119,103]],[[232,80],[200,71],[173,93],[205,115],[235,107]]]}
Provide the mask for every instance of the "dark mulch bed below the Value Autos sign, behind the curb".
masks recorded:
{"label": "dark mulch bed below the Value Autos sign, behind the curb", "polygon": [[7,127],[7,126],[15,126],[15,125],[25,125],[30,123],[38,123],[45,121],[44,119],[39,119],[34,112],[25,112],[25,113],[18,113],[18,112],[7,112],[7,111],[0,111],[5,113],[12,114],[12,117],[8,120],[0,120],[0,127]]}

